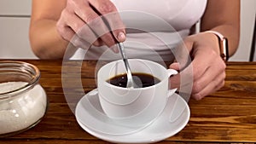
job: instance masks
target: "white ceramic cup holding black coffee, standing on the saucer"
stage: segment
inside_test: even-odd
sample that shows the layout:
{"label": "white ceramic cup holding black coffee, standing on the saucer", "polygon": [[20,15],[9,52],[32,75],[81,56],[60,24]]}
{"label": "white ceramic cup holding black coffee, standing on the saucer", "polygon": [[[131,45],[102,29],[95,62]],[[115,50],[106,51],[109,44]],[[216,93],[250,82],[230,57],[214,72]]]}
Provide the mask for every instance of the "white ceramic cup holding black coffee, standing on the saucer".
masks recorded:
{"label": "white ceramic cup holding black coffee, standing on the saucer", "polygon": [[148,73],[160,79],[160,83],[144,88],[122,88],[107,80],[125,73],[123,60],[102,66],[97,73],[97,87],[102,110],[118,124],[143,127],[157,118],[166,107],[168,96],[176,89],[169,89],[169,78],[177,74],[160,64],[141,59],[129,59],[131,72]]}

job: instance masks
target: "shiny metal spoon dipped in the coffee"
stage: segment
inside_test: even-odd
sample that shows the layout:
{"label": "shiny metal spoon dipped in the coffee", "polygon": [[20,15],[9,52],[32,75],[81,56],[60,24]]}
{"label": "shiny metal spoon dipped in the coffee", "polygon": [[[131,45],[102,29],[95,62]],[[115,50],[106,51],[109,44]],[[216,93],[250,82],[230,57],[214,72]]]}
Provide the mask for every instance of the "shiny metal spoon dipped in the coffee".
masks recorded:
{"label": "shiny metal spoon dipped in the coffee", "polygon": [[127,88],[134,88],[136,85],[134,84],[134,81],[133,81],[133,78],[132,78],[132,75],[131,75],[131,68],[129,66],[127,57],[125,55],[124,44],[123,43],[118,43],[118,46],[119,46],[120,53],[121,53],[122,58],[123,58],[124,63],[125,63],[125,70],[126,70],[126,74],[127,74],[127,84],[126,84],[126,87]]}

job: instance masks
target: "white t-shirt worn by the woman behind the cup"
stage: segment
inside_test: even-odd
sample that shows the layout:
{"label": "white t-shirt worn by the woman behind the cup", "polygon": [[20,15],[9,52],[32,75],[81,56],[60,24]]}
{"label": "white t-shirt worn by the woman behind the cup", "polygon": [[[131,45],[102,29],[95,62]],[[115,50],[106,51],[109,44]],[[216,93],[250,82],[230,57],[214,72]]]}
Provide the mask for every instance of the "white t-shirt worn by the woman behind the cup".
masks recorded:
{"label": "white t-shirt worn by the woman behind the cup", "polygon": [[[172,48],[201,19],[207,0],[112,0],[127,30],[125,52],[130,58],[170,60]],[[137,31],[140,30],[140,31]],[[84,54],[86,55],[84,56]],[[103,54],[103,55],[102,55]],[[119,59],[106,46],[78,49],[71,59]]]}

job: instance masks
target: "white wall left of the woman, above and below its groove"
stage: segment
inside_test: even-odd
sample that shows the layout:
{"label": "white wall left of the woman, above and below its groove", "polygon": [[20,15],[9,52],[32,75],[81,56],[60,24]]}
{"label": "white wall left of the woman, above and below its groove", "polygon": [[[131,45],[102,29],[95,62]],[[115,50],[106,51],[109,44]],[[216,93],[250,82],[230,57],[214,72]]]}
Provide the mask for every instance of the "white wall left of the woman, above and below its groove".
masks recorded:
{"label": "white wall left of the woman, above and below its groove", "polygon": [[0,58],[37,59],[28,39],[32,0],[0,0]]}

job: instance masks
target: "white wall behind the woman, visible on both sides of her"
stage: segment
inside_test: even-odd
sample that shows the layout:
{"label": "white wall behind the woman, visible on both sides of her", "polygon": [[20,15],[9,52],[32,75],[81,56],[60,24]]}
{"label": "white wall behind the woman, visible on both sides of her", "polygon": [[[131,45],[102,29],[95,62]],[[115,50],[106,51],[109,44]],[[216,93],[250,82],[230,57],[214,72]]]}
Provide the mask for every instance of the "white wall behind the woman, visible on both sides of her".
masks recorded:
{"label": "white wall behind the woman, visible on both sides of her", "polygon": [[[28,39],[32,0],[0,0],[0,59],[35,59]],[[251,51],[256,0],[241,0],[241,38],[230,60],[247,61]]]}

